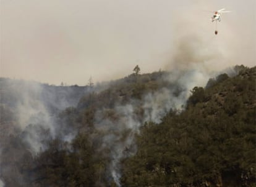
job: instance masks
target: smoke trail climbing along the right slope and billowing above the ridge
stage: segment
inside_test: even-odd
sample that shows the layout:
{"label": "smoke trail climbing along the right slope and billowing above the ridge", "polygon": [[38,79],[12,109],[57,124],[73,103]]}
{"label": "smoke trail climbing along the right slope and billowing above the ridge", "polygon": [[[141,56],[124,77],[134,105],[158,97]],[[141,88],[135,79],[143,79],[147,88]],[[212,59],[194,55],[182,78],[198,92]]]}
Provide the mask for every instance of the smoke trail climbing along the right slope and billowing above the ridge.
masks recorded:
{"label": "smoke trail climbing along the right slope and billowing above the ridge", "polygon": [[[177,30],[181,28],[184,27],[180,25]],[[190,34],[178,34],[172,56],[166,65],[171,73],[165,76],[164,80],[175,84],[175,87],[164,87],[156,92],[150,92],[144,95],[142,100],[130,101],[129,105],[122,106],[116,103],[114,113],[119,116],[117,121],[105,119],[102,109],[96,114],[96,128],[108,132],[104,137],[103,146],[111,150],[109,170],[117,186],[121,186],[120,161],[135,153],[134,135],[139,133],[140,126],[149,121],[160,123],[170,109],[182,111],[190,96],[190,90],[195,86],[205,87],[210,78],[220,74],[214,66],[221,64],[221,67],[225,67],[227,61],[223,58],[223,47],[219,46],[215,36],[202,38],[195,30]],[[221,71],[226,72],[236,73],[233,68]],[[137,114],[141,110],[142,119]],[[127,131],[129,136],[121,140],[123,132]],[[126,154],[127,152],[129,154]]]}

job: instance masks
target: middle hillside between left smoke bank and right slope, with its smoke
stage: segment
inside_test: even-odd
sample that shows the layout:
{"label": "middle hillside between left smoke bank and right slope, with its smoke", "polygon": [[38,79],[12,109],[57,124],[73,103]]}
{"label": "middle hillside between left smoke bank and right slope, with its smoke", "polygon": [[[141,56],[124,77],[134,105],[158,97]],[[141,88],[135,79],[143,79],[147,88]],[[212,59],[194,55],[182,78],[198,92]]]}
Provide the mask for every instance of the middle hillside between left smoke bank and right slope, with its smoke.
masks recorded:
{"label": "middle hillside between left smoke bank and right slope, with its smoke", "polygon": [[[71,126],[76,126],[79,134],[70,149],[64,153],[59,147],[61,142],[54,146],[54,149],[58,150],[57,153],[62,155],[62,159],[59,159],[61,162],[54,161],[54,167],[51,166],[51,154],[44,152],[38,157],[40,164],[36,168],[40,168],[40,173],[43,173],[43,178],[46,179],[41,180],[42,186],[61,186],[64,183],[75,186],[84,183],[90,186],[120,185],[119,161],[122,157],[134,153],[134,135],[145,119],[150,119],[145,117],[148,115],[145,111],[149,110],[145,106],[145,95],[167,88],[175,93],[182,90],[179,85],[164,79],[167,74],[169,73],[131,74],[127,78],[110,82],[105,90],[86,94],[80,99],[77,108],[63,111],[61,117],[69,121]],[[170,100],[170,95],[169,92],[161,95],[162,100]],[[179,94],[173,99],[177,97]],[[172,106],[174,105],[170,104],[168,107]],[[159,106],[161,107],[164,106]],[[167,112],[168,109],[165,109]],[[50,148],[49,151],[54,149]],[[41,165],[43,160],[50,162]],[[70,162],[73,165],[70,165]],[[75,172],[68,172],[74,170],[73,167]],[[58,170],[61,170],[61,173]]]}

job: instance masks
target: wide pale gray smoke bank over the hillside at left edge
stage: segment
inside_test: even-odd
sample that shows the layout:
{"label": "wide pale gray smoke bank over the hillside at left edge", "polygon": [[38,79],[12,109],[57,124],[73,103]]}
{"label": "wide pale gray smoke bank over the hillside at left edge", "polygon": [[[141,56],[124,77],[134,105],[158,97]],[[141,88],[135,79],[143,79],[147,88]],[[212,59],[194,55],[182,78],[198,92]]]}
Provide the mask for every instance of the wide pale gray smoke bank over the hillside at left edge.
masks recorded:
{"label": "wide pale gray smoke bank over the hillside at left edge", "polygon": [[[21,162],[23,155],[35,156],[45,150],[51,139],[70,142],[75,137],[77,130],[60,122],[58,114],[76,106],[88,89],[4,78],[0,79],[0,87],[0,149],[6,150],[0,152],[0,177],[24,184],[19,171],[13,170],[15,164]],[[19,146],[12,147],[12,142]],[[14,157],[14,153],[19,156]]]}

